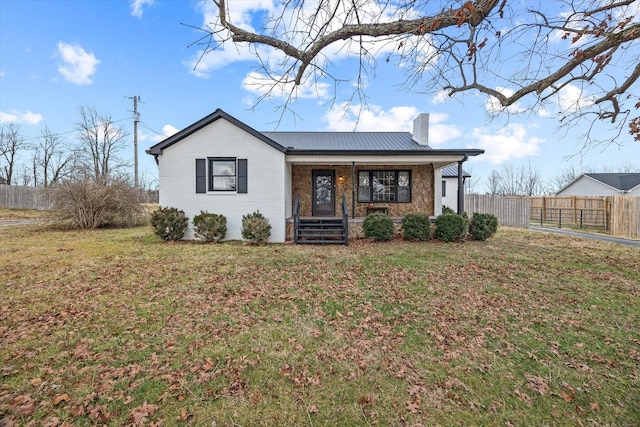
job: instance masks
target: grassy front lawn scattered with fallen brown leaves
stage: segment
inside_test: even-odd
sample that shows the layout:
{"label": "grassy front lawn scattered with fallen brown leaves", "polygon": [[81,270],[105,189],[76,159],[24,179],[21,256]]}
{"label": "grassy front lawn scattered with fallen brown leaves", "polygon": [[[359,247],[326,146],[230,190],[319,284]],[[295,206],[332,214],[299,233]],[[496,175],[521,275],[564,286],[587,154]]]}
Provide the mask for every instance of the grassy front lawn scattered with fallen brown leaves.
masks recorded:
{"label": "grassy front lawn scattered with fallen brown leaves", "polygon": [[640,252],[0,230],[0,424],[637,425]]}

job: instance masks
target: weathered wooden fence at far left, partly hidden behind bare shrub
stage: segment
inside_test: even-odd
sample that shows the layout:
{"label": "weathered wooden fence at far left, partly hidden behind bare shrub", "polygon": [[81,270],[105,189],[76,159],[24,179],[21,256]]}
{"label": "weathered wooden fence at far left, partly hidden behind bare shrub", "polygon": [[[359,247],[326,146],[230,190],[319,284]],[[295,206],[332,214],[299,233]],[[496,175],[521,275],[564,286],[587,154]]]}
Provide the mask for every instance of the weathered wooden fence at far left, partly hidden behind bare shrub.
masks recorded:
{"label": "weathered wooden fence at far left, partly hidden behind bare shrub", "polygon": [[[140,190],[142,203],[158,203],[158,190]],[[53,207],[51,188],[0,184],[0,207],[49,210]]]}

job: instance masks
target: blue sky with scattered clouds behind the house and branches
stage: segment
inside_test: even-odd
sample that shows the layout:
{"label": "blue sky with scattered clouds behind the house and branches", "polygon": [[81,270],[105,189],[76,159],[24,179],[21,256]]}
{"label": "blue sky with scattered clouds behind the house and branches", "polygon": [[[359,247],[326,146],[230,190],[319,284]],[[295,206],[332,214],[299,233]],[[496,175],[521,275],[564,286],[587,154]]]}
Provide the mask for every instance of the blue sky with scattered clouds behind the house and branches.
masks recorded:
{"label": "blue sky with scattered clouds behind the house and branches", "polygon": [[[144,150],[162,134],[169,136],[217,108],[264,131],[410,131],[412,119],[428,112],[434,148],[486,151],[465,164],[479,179],[479,192],[489,173],[504,165],[531,165],[545,180],[569,167],[615,170],[631,164],[640,170],[640,143],[626,130],[616,144],[580,154],[581,129],[558,129],[553,111],[490,120],[484,96],[443,101],[401,90],[405,76],[393,61],[379,61],[359,120],[357,108],[346,114],[340,108],[351,93],[348,84],[338,88],[335,103],[329,85],[301,88],[290,105],[295,116],[281,117],[283,98],[277,94],[254,105],[261,93],[251,83],[259,74],[245,49],[225,46],[196,67],[202,47],[194,42],[203,33],[191,26],[210,21],[210,5],[204,0],[0,0],[0,122],[18,122],[30,142],[45,125],[74,142],[80,106],[108,113],[132,131],[129,97],[140,96],[140,174],[147,181],[157,176],[157,168]],[[256,5],[262,13],[272,7],[268,0],[236,2],[234,16],[255,21]],[[346,79],[357,70],[349,58],[336,57],[334,65]],[[607,135],[604,126],[595,132]],[[133,158],[132,143],[121,156]],[[29,154],[20,160],[28,163]]]}

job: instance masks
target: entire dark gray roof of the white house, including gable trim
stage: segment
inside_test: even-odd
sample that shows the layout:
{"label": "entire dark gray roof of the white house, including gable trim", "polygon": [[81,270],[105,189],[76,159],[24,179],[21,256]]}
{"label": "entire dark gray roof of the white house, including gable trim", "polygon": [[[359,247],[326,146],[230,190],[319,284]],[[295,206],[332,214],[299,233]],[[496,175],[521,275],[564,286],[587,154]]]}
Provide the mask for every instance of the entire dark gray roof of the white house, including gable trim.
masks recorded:
{"label": "entire dark gray roof of the white house, including gable trim", "polygon": [[217,109],[180,132],[155,144],[148,154],[158,156],[171,145],[223,118],[285,154],[298,155],[465,155],[477,156],[480,149],[437,149],[420,145],[409,132],[258,132]]}

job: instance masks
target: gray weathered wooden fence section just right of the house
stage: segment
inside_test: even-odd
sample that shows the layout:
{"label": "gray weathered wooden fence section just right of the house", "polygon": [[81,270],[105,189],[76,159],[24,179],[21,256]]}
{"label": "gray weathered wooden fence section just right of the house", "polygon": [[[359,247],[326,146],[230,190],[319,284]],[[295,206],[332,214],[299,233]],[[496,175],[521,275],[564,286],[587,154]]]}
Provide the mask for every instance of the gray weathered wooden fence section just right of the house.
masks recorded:
{"label": "gray weathered wooden fence section just right of the house", "polygon": [[464,210],[469,214],[488,213],[498,218],[499,225],[529,228],[529,198],[466,194]]}

